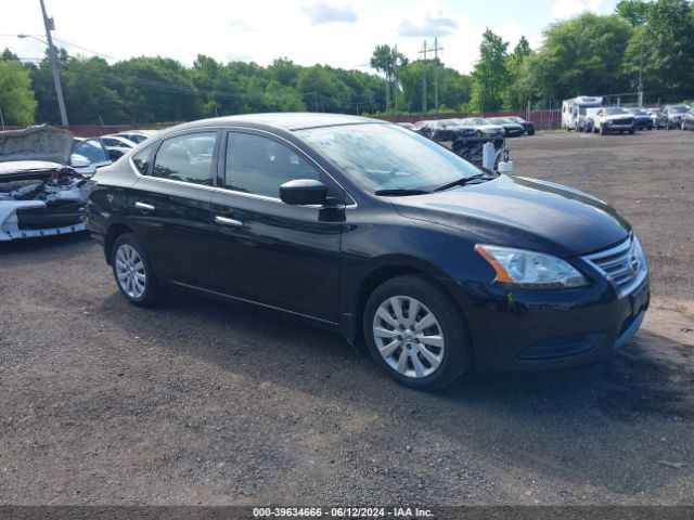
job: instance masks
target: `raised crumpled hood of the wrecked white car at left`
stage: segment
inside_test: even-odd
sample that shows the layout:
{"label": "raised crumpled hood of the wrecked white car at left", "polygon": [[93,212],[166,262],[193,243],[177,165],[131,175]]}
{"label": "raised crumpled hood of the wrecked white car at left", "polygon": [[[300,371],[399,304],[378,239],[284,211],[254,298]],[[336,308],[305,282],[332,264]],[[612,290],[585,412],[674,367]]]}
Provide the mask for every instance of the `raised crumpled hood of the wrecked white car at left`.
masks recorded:
{"label": "raised crumpled hood of the wrecked white car at left", "polygon": [[73,134],[47,125],[0,132],[0,162],[46,160],[69,164]]}

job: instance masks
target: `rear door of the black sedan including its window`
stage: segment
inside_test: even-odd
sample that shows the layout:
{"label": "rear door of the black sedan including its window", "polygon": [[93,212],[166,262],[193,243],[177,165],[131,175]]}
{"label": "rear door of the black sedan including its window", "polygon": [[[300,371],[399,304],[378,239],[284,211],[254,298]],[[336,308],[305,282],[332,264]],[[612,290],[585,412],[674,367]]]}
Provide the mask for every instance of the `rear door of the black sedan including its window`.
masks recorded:
{"label": "rear door of the black sedan including its window", "polygon": [[178,134],[162,141],[151,155],[145,148],[132,158],[145,174],[131,190],[131,218],[156,273],[202,288],[215,282],[210,204],[219,134]]}

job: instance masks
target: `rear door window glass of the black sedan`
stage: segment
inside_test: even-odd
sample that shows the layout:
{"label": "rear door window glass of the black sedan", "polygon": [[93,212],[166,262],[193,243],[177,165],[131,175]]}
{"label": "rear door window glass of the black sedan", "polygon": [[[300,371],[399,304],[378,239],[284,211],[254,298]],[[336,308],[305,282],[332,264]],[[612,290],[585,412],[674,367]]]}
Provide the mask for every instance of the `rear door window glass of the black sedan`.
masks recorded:
{"label": "rear door window glass of the black sedan", "polygon": [[211,185],[217,132],[187,133],[165,140],[156,153],[152,177]]}

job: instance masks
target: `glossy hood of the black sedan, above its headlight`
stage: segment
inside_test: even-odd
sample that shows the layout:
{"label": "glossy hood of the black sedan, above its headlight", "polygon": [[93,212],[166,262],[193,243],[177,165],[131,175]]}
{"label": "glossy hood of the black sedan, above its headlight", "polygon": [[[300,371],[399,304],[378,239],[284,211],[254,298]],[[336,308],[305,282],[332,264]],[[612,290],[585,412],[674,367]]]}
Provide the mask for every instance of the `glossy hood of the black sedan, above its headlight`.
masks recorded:
{"label": "glossy hood of the black sedan, above its headlight", "polygon": [[613,207],[587,193],[513,176],[390,200],[404,217],[455,227],[480,243],[565,257],[617,244],[631,231]]}

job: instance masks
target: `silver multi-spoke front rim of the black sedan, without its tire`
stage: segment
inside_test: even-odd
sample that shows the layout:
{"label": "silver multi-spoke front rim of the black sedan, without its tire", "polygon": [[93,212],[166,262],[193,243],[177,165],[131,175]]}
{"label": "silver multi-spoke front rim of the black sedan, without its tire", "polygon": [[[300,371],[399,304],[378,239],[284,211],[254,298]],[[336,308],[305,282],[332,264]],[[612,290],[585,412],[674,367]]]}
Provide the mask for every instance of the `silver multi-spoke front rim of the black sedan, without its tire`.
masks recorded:
{"label": "silver multi-spoke front rim of the black sedan, without its tire", "polygon": [[444,330],[434,313],[412,297],[393,296],[381,303],[373,337],[385,362],[406,377],[430,376],[444,361]]}

